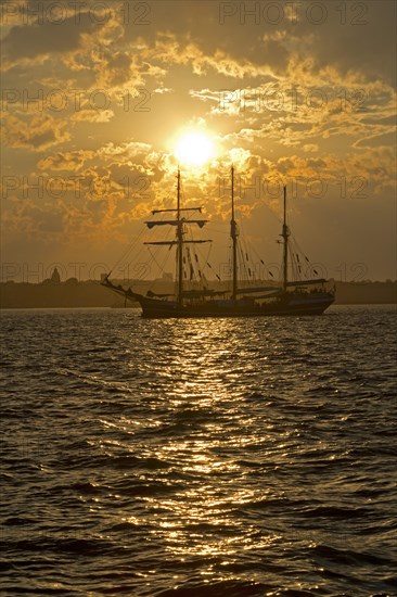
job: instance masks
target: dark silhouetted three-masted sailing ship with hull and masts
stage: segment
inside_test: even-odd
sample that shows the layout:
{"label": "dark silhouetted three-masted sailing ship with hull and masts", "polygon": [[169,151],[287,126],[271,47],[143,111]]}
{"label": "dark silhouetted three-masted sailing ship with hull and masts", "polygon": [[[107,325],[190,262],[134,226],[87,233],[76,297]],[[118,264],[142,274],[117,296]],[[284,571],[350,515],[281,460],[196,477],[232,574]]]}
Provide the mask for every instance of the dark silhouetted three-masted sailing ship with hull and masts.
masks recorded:
{"label": "dark silhouetted three-masted sailing ship with hull and masts", "polygon": [[[152,219],[146,221],[149,229],[155,226],[175,227],[176,234],[172,240],[161,240],[146,242],[150,245],[164,245],[176,249],[176,284],[174,294],[156,294],[151,290],[146,294],[133,291],[130,287],[124,288],[110,280],[106,275],[102,284],[126,301],[139,303],[142,308],[142,316],[148,318],[185,318],[185,317],[255,317],[274,315],[320,315],[333,302],[334,291],[328,288],[328,280],[315,279],[289,279],[290,259],[290,228],[286,224],[286,188],[283,195],[283,224],[282,224],[282,280],[281,284],[244,287],[239,276],[239,230],[235,220],[234,206],[234,168],[231,168],[231,283],[227,290],[209,289],[208,284],[203,288],[188,288],[188,279],[184,272],[187,256],[190,257],[190,244],[212,242],[209,240],[197,240],[187,238],[187,228],[198,226],[203,228],[208,220],[203,218],[190,218],[190,213],[202,213],[201,207],[181,206],[181,177],[178,169],[177,175],[177,206],[171,209],[154,209],[153,216],[157,214],[172,214],[172,219]],[[192,266],[191,266],[192,267]],[[299,270],[300,270],[300,266]],[[201,275],[201,274],[200,274]],[[219,277],[218,277],[219,278]]]}

